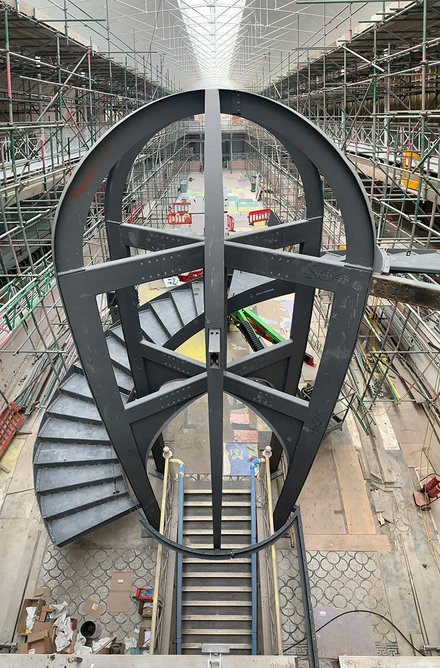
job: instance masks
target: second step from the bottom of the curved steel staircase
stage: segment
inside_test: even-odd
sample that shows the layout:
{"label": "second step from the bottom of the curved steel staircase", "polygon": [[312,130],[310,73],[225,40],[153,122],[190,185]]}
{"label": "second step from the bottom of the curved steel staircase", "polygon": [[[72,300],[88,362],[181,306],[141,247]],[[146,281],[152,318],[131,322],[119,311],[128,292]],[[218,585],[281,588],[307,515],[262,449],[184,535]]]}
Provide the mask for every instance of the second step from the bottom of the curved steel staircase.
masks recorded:
{"label": "second step from the bottom of the curved steel staircase", "polygon": [[102,485],[91,485],[87,488],[87,494],[84,493],[83,487],[71,490],[64,489],[62,492],[52,494],[42,494],[40,495],[39,505],[43,518],[49,520],[71,515],[79,510],[105,503],[123,495],[127,496],[127,488],[120,478]]}

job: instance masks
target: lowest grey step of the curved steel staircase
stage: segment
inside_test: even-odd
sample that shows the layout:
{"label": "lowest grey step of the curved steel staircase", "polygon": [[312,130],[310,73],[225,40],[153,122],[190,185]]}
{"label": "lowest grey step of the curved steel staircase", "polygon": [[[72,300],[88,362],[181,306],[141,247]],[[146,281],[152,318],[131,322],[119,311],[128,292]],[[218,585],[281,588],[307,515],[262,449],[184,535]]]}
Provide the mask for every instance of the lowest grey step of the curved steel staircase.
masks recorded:
{"label": "lowest grey step of the curved steel staircase", "polygon": [[119,496],[106,503],[48,522],[49,535],[56,545],[62,546],[95,527],[127,515],[135,508],[136,505],[128,495]]}

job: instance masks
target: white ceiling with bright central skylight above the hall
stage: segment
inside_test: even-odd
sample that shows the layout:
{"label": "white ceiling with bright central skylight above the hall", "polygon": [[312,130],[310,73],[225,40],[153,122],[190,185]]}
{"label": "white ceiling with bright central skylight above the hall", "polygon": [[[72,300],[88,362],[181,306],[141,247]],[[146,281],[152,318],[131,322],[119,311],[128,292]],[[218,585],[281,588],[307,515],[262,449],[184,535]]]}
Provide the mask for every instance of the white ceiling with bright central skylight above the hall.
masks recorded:
{"label": "white ceiling with bright central skylight above the hall", "polygon": [[[60,3],[36,0],[54,19],[64,17]],[[136,60],[153,80],[162,72],[179,89],[216,85],[255,91],[294,70],[298,61],[316,57],[317,47],[364,27],[359,20],[383,7],[295,0],[66,0],[66,6],[68,18],[76,19],[72,30],[117,60],[129,65]],[[104,21],[77,21],[87,18]]]}

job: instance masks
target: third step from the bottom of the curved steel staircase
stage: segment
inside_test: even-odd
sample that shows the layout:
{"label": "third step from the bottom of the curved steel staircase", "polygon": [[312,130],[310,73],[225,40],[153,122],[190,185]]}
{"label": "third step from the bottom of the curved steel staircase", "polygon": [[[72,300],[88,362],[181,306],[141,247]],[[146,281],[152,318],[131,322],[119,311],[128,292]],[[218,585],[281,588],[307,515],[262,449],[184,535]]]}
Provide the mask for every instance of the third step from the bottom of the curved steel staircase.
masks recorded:
{"label": "third step from the bottom of the curved steel staircase", "polygon": [[36,492],[55,492],[75,487],[88,487],[122,478],[119,463],[88,464],[87,466],[49,466],[37,469],[35,476]]}

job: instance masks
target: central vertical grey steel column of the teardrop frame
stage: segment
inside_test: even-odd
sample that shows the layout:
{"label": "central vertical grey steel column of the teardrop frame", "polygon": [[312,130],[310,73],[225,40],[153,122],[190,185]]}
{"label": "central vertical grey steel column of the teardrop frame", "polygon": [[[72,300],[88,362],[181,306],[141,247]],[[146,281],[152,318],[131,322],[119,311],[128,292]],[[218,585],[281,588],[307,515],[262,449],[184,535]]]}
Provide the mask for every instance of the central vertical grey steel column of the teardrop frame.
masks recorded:
{"label": "central vertical grey steel column of the teardrop frame", "polygon": [[212,531],[221,547],[223,372],[226,368],[222,130],[218,90],[205,92],[205,345],[211,448]]}

